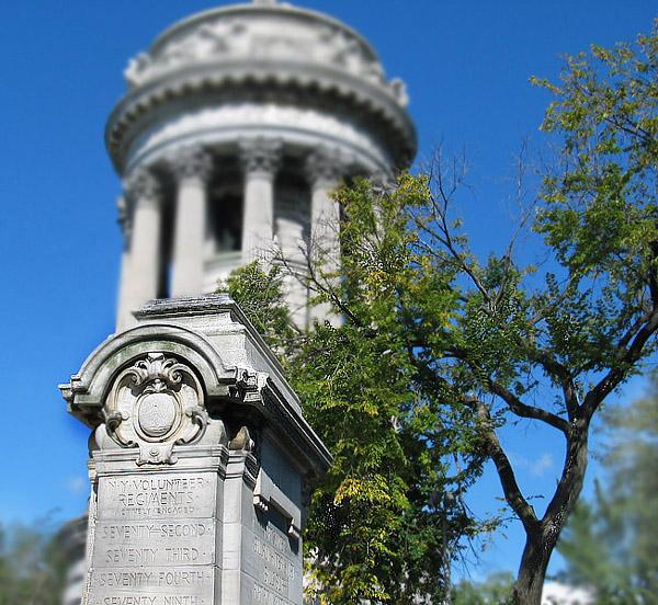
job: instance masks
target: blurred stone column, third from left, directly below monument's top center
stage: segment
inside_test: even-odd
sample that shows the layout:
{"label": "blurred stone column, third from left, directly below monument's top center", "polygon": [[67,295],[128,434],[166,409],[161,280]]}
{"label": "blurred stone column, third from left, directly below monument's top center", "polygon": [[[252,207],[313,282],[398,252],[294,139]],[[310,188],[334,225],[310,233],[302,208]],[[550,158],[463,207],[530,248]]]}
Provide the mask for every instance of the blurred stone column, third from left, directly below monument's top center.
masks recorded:
{"label": "blurred stone column, third from left, directly below monument's top center", "polygon": [[245,171],[242,207],[242,262],[269,260],[274,237],[274,179],[281,142],[243,140],[240,158]]}

